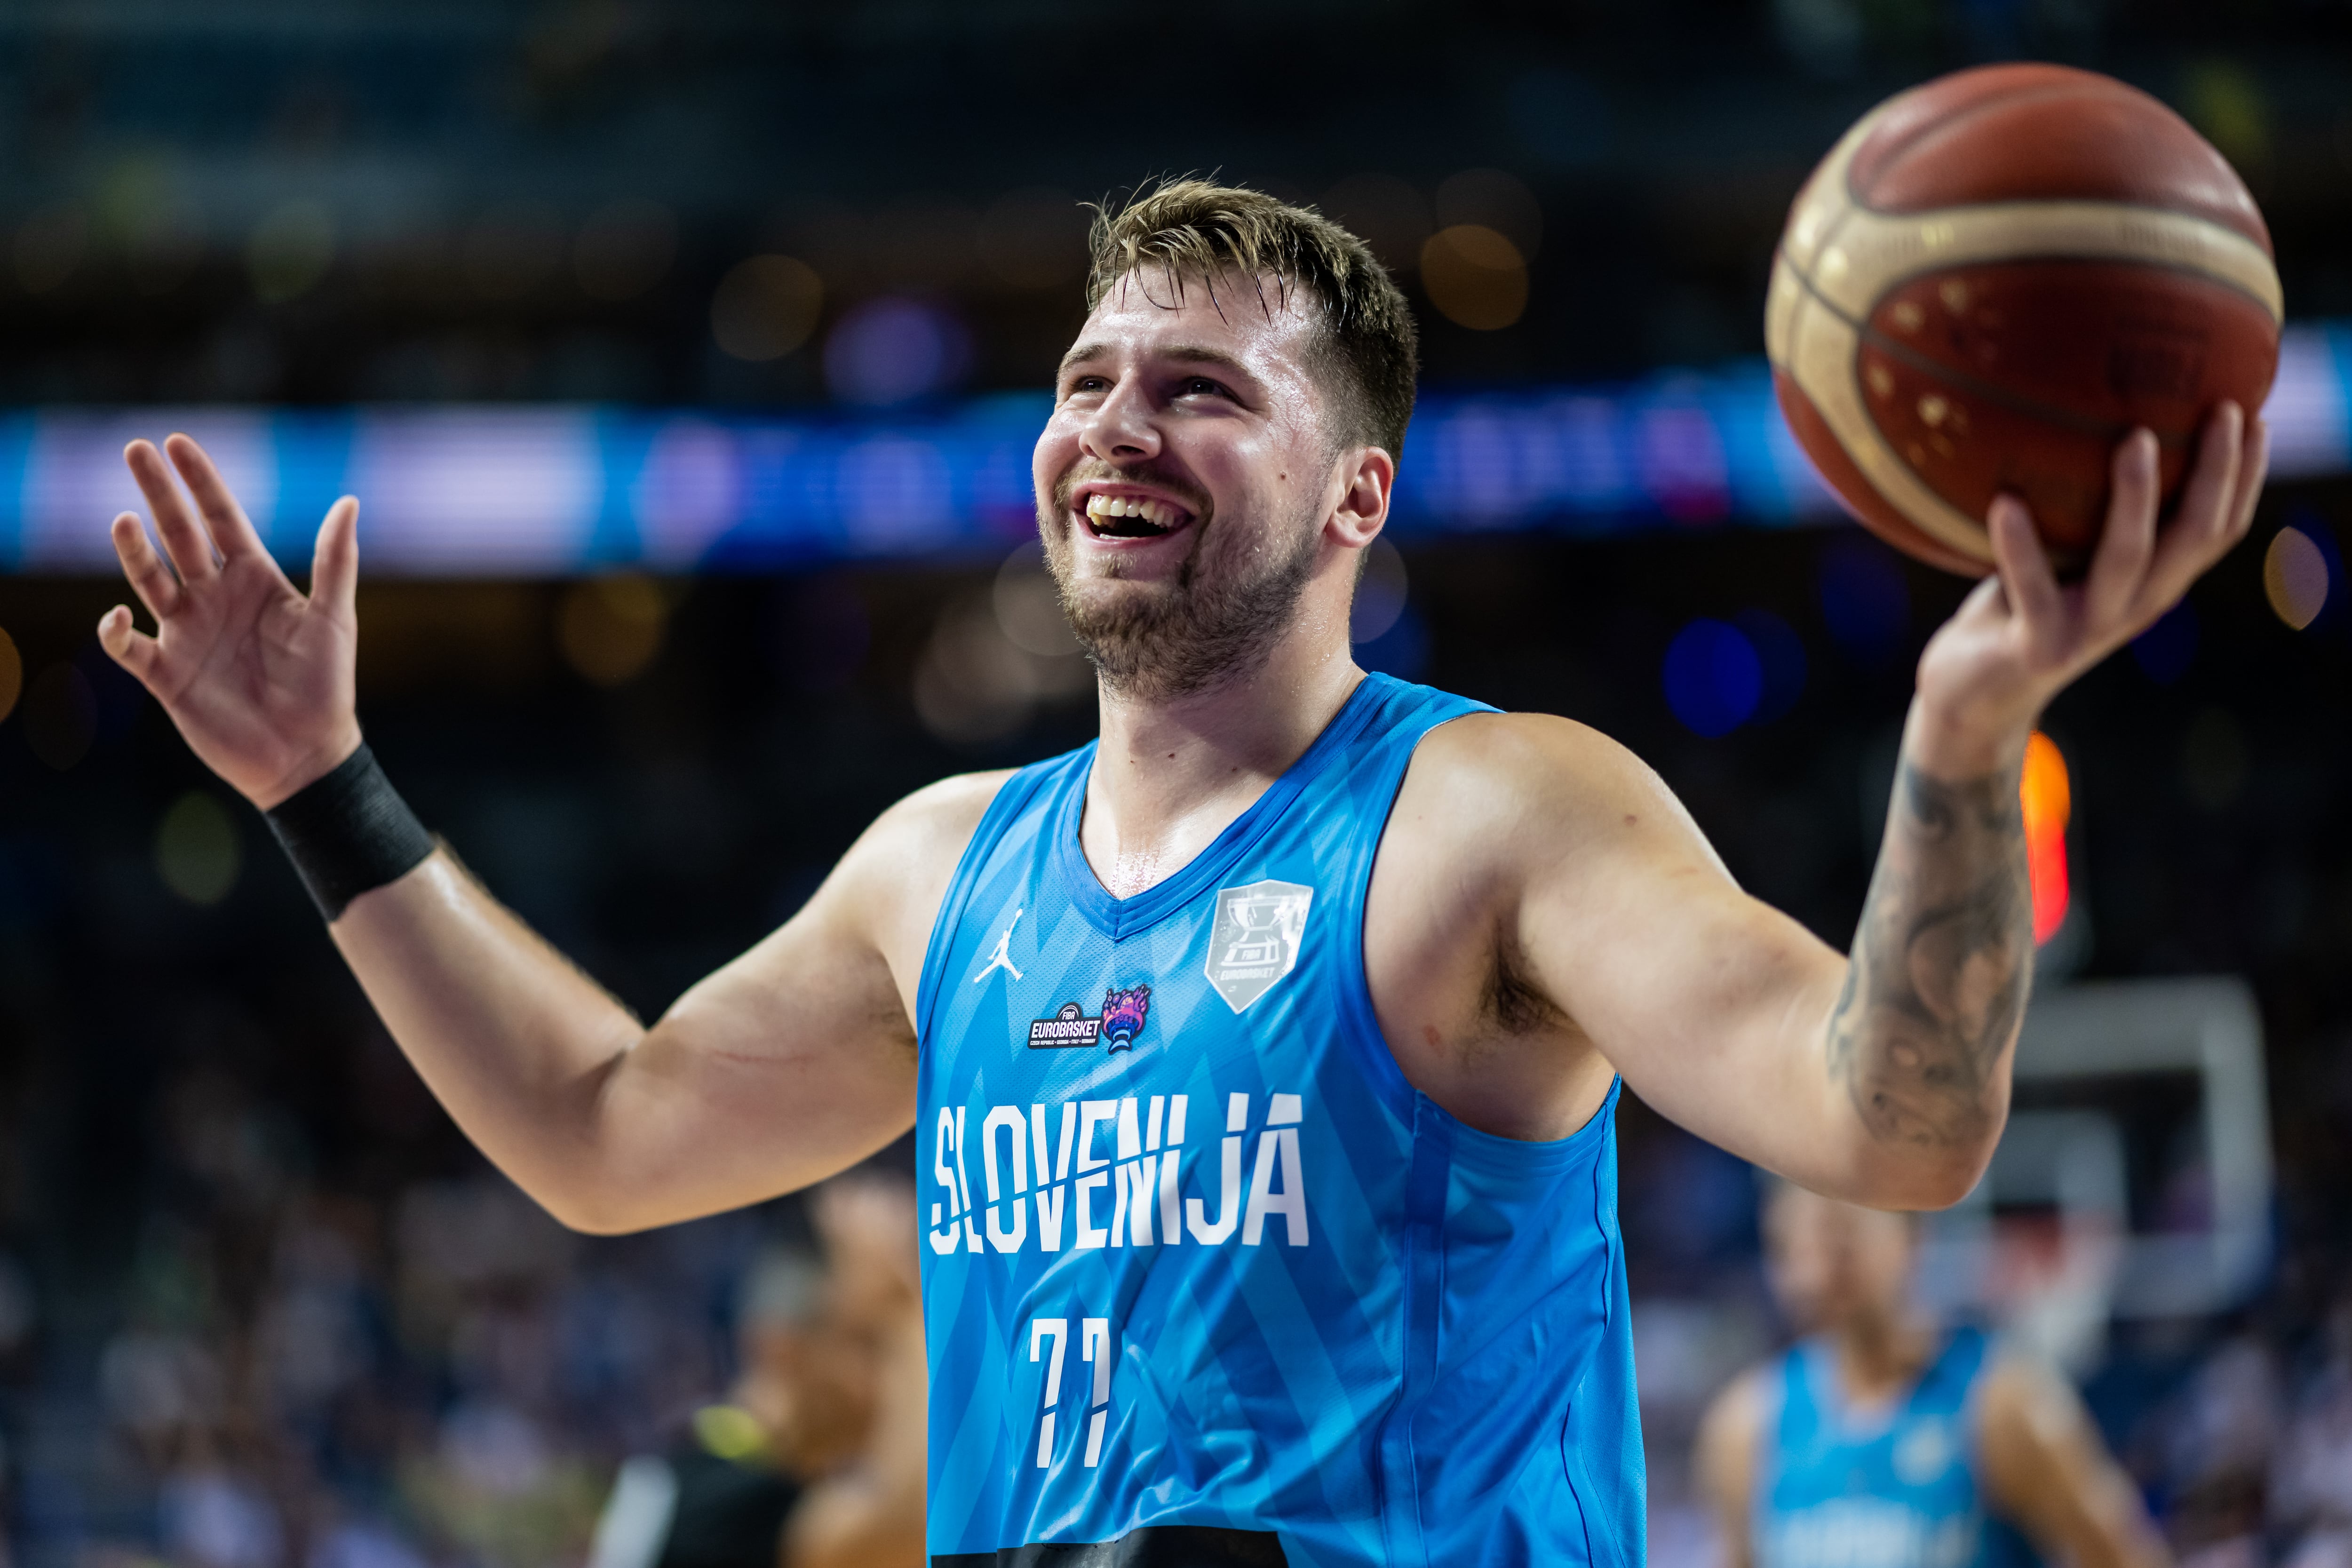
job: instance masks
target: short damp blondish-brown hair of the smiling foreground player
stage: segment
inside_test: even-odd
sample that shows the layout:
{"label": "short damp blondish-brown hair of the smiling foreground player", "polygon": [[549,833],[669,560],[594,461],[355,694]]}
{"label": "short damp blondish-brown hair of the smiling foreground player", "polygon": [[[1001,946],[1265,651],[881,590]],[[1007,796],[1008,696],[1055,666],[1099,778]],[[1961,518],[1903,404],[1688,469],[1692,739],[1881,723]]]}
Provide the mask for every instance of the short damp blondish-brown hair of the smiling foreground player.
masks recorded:
{"label": "short damp blondish-brown hair of the smiling foreground player", "polygon": [[1331,393],[1334,444],[1404,454],[1421,374],[1414,310],[1371,247],[1331,219],[1247,186],[1176,179],[1124,207],[1096,207],[1089,249],[1089,310],[1136,273],[1157,273],[1171,306],[1185,282],[1207,284],[1214,299],[1225,275],[1305,294],[1319,317],[1315,371]]}

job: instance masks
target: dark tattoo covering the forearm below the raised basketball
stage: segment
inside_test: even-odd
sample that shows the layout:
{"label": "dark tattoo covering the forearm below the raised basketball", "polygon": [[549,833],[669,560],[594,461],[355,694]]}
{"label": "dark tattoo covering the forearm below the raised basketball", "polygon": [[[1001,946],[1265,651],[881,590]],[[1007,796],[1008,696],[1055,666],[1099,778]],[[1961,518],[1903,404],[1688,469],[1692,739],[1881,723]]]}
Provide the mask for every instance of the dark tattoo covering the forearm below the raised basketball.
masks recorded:
{"label": "dark tattoo covering the forearm below the raised basketball", "polygon": [[2016,773],[1945,783],[1903,762],[1828,1041],[1879,1143],[1985,1135],[2032,969]]}

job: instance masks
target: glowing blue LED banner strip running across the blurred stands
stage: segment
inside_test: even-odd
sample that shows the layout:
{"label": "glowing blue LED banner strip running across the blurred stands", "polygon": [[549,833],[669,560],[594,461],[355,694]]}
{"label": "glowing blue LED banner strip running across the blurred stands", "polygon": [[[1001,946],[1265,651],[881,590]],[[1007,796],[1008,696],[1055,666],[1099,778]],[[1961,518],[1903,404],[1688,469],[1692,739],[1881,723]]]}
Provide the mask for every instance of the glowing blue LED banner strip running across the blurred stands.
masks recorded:
{"label": "glowing blue LED banner strip running across the blurred stands", "polygon": [[[2352,324],[2288,329],[2265,409],[2281,477],[2352,468]],[[654,411],[576,404],[31,409],[0,414],[0,567],[111,571],[136,508],[122,444],[188,430],[263,538],[308,562],[360,496],[369,574],[515,576],[612,567],[769,569],[953,559],[1033,527],[1042,395],[924,414]],[[1762,364],[1618,388],[1430,393],[1397,480],[1404,538],[1550,529],[1788,527],[1837,515]]]}

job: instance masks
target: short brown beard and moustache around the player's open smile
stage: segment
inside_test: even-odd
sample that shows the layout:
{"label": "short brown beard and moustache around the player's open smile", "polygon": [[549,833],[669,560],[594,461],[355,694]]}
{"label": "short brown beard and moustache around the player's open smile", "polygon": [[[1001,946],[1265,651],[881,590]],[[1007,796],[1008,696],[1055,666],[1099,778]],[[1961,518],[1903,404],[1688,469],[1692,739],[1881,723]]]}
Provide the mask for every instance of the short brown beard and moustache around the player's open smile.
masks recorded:
{"label": "short brown beard and moustache around the player's open smile", "polygon": [[1192,552],[1169,583],[1122,588],[1117,559],[1103,576],[1080,581],[1068,529],[1084,524],[1070,522],[1070,491],[1089,477],[1096,475],[1063,475],[1054,512],[1037,522],[1061,609],[1103,689],[1169,701],[1254,675],[1291,628],[1298,595],[1315,576],[1317,531],[1303,517],[1282,517],[1256,543],[1228,538],[1192,484],[1127,468],[1120,480],[1160,484],[1192,508]]}

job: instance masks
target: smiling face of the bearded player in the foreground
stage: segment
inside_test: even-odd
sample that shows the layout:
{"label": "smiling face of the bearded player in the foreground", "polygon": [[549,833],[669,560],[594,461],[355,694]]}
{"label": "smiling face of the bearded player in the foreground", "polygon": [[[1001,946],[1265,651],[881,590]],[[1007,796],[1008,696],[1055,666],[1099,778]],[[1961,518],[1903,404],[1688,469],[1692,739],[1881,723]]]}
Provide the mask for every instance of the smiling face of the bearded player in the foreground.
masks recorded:
{"label": "smiling face of the bearded player in the foreground", "polygon": [[1105,684],[1185,696],[1247,675],[1319,559],[1334,451],[1312,303],[1225,275],[1131,273],[1063,357],[1037,527]]}

